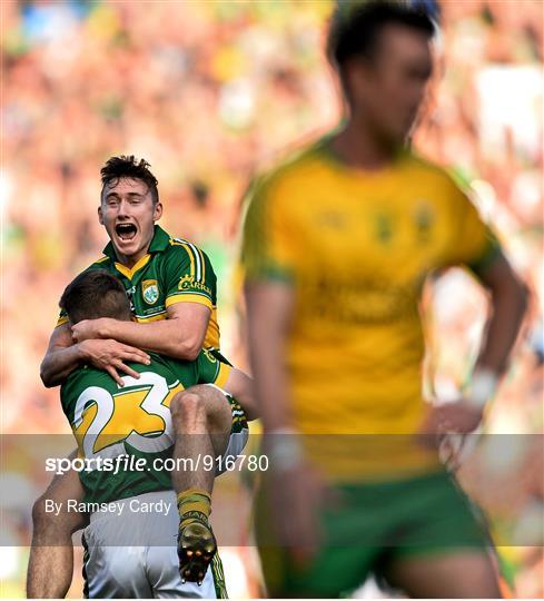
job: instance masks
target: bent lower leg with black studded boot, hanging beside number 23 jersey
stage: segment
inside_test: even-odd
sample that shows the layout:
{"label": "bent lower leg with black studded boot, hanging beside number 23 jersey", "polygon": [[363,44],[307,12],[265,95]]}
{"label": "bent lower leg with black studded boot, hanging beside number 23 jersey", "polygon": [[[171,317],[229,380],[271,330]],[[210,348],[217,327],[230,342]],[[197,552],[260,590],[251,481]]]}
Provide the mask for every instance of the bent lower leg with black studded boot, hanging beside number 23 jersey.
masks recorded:
{"label": "bent lower leg with black studded boot, hanging beside number 23 jersey", "polygon": [[178,393],[170,411],[176,435],[174,460],[187,466],[172,473],[180,516],[180,573],[184,581],[201,582],[217,551],[208,524],[215,470],[209,469],[209,463],[207,469],[205,461],[215,460],[227,449],[233,413],[225,395],[205,385]]}

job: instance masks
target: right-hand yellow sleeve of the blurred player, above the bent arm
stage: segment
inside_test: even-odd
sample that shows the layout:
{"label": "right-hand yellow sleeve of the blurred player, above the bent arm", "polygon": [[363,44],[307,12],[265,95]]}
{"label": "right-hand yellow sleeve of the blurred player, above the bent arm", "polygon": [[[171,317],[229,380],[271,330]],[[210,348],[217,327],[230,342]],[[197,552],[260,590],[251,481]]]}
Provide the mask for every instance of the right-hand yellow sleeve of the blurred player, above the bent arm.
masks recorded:
{"label": "right-hand yellow sleeve of the blurred player, above the bent arm", "polygon": [[501,245],[468,196],[453,181],[451,186],[455,235],[449,244],[447,263],[465,265],[477,275],[497,257]]}

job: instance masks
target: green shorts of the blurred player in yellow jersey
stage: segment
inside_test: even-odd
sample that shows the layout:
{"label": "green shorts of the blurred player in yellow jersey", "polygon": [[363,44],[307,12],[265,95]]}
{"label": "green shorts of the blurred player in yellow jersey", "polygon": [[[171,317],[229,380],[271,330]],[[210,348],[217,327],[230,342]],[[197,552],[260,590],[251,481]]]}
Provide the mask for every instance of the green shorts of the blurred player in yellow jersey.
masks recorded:
{"label": "green shorts of the blurred player in yellow jersey", "polygon": [[[257,510],[263,573],[273,597],[338,597],[407,555],[489,545],[482,513],[447,472],[337,486],[342,502],[320,513],[323,542],[304,569],[274,544],[264,493]],[[268,515],[268,519],[267,519]]]}

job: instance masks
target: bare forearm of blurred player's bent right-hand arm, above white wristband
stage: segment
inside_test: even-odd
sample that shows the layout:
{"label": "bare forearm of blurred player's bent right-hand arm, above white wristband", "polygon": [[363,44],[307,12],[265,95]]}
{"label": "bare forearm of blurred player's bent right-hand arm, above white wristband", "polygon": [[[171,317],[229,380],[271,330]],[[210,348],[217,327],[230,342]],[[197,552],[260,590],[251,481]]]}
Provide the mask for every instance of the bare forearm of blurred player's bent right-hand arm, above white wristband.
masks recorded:
{"label": "bare forearm of blurred player's bent right-hand arm, above white wristband", "polygon": [[492,289],[492,314],[487,322],[478,367],[496,374],[506,370],[527,306],[525,286],[518,280],[508,282],[502,288]]}

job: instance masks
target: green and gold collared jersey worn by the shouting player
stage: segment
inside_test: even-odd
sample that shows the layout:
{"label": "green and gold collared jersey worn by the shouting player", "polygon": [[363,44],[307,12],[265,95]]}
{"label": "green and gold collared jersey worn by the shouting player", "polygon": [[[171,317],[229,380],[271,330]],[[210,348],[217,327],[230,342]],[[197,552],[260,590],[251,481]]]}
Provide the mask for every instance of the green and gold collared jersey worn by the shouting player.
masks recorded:
{"label": "green and gold collared jersey worn by the shouting player", "polygon": [[[131,269],[117,260],[111,243],[103,254],[87,270],[107,269],[123,283],[137,322],[166,319],[167,308],[176,303],[199,303],[211,312],[204,347],[219,348],[217,278],[202,250],[155,226],[148,254]],[[57,326],[67,322],[61,312]]]}

